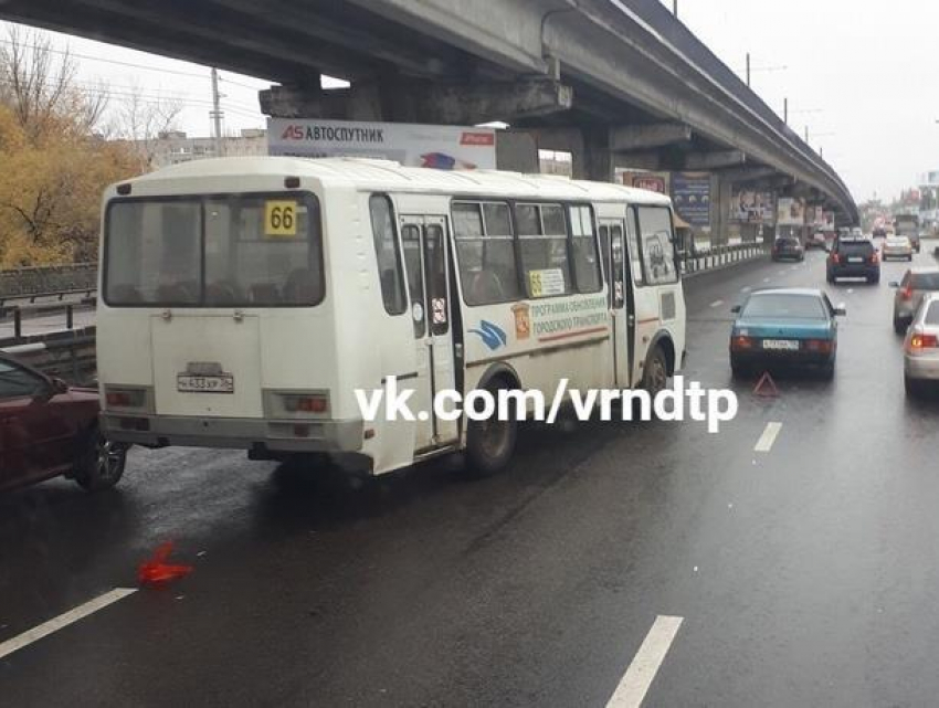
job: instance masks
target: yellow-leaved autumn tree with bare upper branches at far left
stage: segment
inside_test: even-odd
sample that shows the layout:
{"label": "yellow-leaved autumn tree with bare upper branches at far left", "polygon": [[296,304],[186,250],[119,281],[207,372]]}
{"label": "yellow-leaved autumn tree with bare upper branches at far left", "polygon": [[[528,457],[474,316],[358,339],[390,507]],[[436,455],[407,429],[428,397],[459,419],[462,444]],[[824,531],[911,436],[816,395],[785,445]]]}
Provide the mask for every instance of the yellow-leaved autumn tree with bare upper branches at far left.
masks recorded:
{"label": "yellow-leaved autumn tree with bare upper branches at far left", "polygon": [[75,74],[39,33],[0,44],[0,268],[94,261],[104,188],[144,170],[133,144],[95,133],[106,94]]}

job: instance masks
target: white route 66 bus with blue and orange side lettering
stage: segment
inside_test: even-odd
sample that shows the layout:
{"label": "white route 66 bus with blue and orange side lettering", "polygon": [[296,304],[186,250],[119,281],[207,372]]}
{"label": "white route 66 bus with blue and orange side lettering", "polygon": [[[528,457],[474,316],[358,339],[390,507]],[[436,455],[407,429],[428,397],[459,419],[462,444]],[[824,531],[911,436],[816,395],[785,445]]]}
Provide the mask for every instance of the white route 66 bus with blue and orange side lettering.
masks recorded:
{"label": "white route 66 bus with blue and orange side lettering", "polygon": [[[222,158],[110,187],[97,363],[103,427],[252,459],[352,456],[373,475],[516,423],[447,421],[452,389],[667,384],[685,302],[666,197],[379,160]],[[389,377],[426,420],[367,421]]]}

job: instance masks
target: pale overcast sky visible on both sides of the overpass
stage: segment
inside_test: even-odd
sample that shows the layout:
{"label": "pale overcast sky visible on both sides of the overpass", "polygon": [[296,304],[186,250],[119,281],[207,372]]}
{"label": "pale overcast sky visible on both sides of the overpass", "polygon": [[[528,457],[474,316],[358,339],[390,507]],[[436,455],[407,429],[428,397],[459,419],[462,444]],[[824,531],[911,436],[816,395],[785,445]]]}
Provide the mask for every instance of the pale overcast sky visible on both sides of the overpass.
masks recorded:
{"label": "pale overcast sky visible on both sides of the overpass", "polygon": [[[789,98],[790,124],[809,127],[856,199],[897,196],[939,169],[939,2],[678,0],[678,15],[741,76],[750,52],[753,89],[780,115]],[[81,80],[105,81],[113,102],[140,86],[148,98],[183,103],[182,129],[210,135],[208,67],[56,35],[66,45]],[[226,129],[264,126],[257,88],[266,85],[222,73]]]}

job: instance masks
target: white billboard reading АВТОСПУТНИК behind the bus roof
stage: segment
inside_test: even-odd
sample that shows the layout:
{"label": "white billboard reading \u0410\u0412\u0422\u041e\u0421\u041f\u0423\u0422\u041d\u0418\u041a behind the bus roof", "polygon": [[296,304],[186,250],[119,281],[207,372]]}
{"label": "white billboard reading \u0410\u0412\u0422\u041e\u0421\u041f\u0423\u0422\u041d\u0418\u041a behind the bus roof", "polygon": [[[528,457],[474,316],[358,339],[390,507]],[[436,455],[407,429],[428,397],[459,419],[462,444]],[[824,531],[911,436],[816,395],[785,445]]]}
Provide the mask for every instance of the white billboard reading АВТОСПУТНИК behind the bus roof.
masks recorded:
{"label": "white billboard reading \u0410\u0412\u0422\u041e\u0421\u041f\u0423\u0422\u041d\u0418\u041a behind the bus roof", "polygon": [[366,157],[444,170],[496,168],[494,128],[268,118],[268,155]]}

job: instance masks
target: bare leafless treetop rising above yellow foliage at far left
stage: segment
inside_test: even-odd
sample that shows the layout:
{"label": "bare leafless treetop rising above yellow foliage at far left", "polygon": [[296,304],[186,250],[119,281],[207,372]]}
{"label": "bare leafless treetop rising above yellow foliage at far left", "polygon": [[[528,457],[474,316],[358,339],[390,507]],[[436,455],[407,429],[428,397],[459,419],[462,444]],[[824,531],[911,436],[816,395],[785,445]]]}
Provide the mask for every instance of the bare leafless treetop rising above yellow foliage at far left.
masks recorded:
{"label": "bare leafless treetop rising above yellow foliage at far left", "polygon": [[62,117],[89,134],[107,107],[107,92],[82,91],[77,71],[68,50],[56,50],[48,34],[10,25],[0,43],[0,103],[12,108],[32,138]]}

